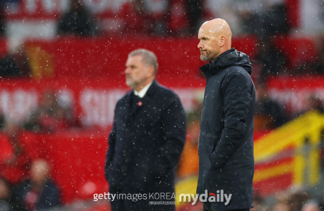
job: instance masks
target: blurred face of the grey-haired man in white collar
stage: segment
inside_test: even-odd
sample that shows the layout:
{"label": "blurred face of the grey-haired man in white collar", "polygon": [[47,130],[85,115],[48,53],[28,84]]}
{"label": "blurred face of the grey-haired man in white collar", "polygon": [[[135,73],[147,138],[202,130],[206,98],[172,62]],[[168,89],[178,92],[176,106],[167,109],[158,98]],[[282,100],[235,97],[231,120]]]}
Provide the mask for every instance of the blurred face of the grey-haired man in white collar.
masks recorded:
{"label": "blurred face of the grey-haired man in white collar", "polygon": [[132,89],[137,89],[153,75],[152,67],[142,63],[142,56],[128,57],[125,66],[126,84]]}

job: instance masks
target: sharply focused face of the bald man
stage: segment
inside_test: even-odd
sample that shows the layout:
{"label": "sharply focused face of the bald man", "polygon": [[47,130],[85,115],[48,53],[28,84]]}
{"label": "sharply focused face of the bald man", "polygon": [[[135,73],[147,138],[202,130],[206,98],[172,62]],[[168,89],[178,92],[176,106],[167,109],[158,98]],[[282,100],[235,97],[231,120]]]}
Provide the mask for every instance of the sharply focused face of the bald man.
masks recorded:
{"label": "sharply focused face of the bald man", "polygon": [[198,49],[200,50],[201,60],[210,61],[219,56],[219,39],[217,39],[213,32],[207,31],[204,25],[198,31],[198,39],[200,40]]}

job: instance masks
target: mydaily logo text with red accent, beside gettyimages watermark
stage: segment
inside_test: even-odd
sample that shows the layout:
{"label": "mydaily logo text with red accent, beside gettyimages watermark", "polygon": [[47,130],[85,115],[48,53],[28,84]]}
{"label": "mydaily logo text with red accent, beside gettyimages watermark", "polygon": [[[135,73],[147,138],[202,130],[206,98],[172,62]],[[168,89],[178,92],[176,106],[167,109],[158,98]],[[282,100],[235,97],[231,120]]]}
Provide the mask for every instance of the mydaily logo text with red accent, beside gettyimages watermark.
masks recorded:
{"label": "mydaily logo text with red accent, beside gettyimages watermark", "polygon": [[217,190],[216,194],[215,193],[209,193],[208,191],[205,190],[205,193],[203,194],[184,194],[181,193],[179,196],[179,201],[180,202],[191,202],[192,205],[195,205],[199,199],[201,202],[224,202],[224,199],[226,200],[225,205],[229,203],[231,200],[232,194],[224,194],[224,190]]}

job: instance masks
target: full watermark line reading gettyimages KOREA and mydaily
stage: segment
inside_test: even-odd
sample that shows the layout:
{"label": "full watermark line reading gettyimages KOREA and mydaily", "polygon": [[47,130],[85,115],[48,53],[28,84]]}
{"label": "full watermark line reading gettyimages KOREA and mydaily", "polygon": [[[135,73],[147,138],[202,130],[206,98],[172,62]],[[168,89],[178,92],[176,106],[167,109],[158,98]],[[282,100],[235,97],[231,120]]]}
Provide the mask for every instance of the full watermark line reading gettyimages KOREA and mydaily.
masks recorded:
{"label": "full watermark line reading gettyimages KOREA and mydaily", "polygon": [[[176,194],[178,193],[138,193],[138,194],[126,194],[126,193],[95,193],[93,194],[93,200],[98,201],[101,199],[108,199],[110,201],[114,200],[158,200],[158,201],[149,201],[149,204],[175,204]],[[195,205],[199,199],[201,202],[224,202],[225,205],[231,200],[232,194],[224,194],[224,190],[217,190],[215,193],[209,193],[205,190],[203,194],[184,194],[179,195],[179,202],[191,202],[192,205]],[[171,201],[161,201],[161,200],[171,200]]]}

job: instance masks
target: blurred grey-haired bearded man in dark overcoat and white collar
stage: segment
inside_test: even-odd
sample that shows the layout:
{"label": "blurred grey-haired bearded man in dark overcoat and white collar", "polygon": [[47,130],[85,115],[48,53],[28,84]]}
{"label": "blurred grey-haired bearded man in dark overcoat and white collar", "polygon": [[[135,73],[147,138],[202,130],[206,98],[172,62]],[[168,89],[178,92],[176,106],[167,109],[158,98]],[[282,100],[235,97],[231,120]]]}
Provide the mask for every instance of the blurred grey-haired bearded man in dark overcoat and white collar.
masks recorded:
{"label": "blurred grey-haired bearded man in dark overcoat and white collar", "polygon": [[[186,117],[179,97],[155,80],[156,71],[153,52],[129,54],[125,75],[133,90],[116,104],[105,166],[109,193],[119,196],[111,200],[113,211],[175,210],[175,167],[185,143]],[[165,195],[150,199],[149,193]]]}

